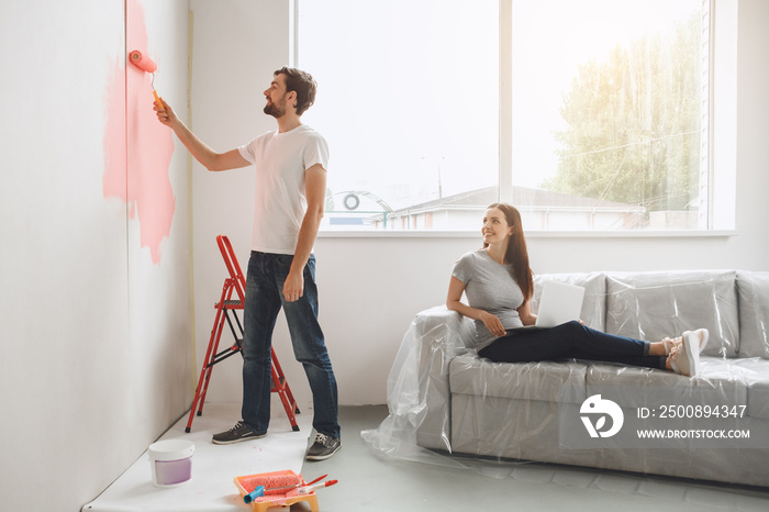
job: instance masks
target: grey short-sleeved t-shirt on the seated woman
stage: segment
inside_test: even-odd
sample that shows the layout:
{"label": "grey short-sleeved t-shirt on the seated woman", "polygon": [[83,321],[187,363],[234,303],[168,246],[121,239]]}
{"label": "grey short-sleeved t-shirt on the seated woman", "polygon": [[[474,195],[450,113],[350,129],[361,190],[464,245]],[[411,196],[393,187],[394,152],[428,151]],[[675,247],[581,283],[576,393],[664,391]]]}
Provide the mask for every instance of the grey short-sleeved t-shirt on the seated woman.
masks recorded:
{"label": "grey short-sleeved t-shirt on the seated woman", "polygon": [[[486,249],[479,249],[457,259],[452,271],[452,276],[465,283],[470,307],[495,315],[506,330],[523,327],[516,311],[523,304],[523,292],[511,274],[512,267],[494,261]],[[476,320],[478,350],[497,338],[483,322]]]}

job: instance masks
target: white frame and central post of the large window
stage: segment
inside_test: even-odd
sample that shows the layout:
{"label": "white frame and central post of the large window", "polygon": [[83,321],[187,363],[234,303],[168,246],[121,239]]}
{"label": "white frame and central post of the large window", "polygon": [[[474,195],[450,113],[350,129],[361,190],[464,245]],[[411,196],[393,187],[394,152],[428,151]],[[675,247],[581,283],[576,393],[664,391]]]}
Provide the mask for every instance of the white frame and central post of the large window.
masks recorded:
{"label": "white frame and central post of the large window", "polygon": [[[514,186],[513,152],[512,152],[512,15],[513,1],[499,0],[499,169],[498,187],[499,200],[510,201]],[[702,0],[707,7],[709,15],[709,62],[707,62],[707,159],[706,171],[706,201],[705,227],[693,230],[575,230],[575,231],[545,231],[527,230],[527,237],[595,237],[595,238],[643,238],[643,237],[723,237],[733,236],[736,232],[736,73],[715,74],[715,65],[736,71],[737,47],[737,1],[738,0]],[[290,60],[297,66],[299,63],[299,2],[292,0],[290,21]],[[715,100],[717,96],[717,101]],[[726,120],[722,127],[715,126],[713,119],[717,116],[720,123]],[[720,171],[715,172],[718,166]],[[723,170],[721,170],[723,169]],[[702,188],[702,185],[701,185]],[[477,237],[477,231],[467,230],[321,230],[317,234],[321,238],[346,237]]]}

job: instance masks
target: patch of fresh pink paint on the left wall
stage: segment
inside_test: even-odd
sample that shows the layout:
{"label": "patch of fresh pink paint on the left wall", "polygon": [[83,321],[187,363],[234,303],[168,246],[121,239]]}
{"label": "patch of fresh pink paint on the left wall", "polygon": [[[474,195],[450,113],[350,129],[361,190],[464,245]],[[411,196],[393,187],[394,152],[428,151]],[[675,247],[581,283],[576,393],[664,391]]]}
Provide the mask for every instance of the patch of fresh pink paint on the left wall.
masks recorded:
{"label": "patch of fresh pink paint on the left wall", "polygon": [[127,51],[107,93],[103,190],[104,197],[127,203],[131,219],[138,216],[141,245],[149,248],[153,264],[158,265],[176,205],[168,175],[174,138],[153,110],[152,75],[127,62],[131,51],[147,56],[151,52],[142,5],[129,0],[126,8]]}

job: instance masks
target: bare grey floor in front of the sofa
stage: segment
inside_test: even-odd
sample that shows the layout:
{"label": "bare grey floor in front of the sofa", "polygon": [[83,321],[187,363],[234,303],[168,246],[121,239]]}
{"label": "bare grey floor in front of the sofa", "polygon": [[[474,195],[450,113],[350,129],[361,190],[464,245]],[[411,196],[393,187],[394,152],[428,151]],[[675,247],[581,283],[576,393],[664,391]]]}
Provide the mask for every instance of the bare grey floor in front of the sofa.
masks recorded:
{"label": "bare grey floor in front of the sofa", "polygon": [[[327,474],[339,481],[317,491],[321,512],[769,510],[769,489],[539,464],[516,466],[499,478],[500,472],[490,477],[472,469],[393,460],[360,437],[361,430],[375,428],[386,416],[384,405],[341,409],[342,449],[302,467],[308,480]],[[302,505],[291,510],[305,510]]]}

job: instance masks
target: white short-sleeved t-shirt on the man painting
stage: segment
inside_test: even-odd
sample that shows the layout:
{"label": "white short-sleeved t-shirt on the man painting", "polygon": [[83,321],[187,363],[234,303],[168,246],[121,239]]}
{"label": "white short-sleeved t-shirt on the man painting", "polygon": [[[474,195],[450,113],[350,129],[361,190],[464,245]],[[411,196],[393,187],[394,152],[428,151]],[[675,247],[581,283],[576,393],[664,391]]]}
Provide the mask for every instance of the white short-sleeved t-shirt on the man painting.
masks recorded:
{"label": "white short-sleeved t-shirt on the man painting", "polygon": [[289,132],[267,132],[238,151],[256,168],[252,249],[293,254],[307,212],[304,172],[315,164],[328,168],[328,145],[300,124]]}

